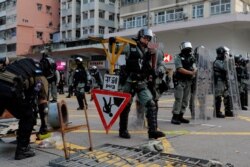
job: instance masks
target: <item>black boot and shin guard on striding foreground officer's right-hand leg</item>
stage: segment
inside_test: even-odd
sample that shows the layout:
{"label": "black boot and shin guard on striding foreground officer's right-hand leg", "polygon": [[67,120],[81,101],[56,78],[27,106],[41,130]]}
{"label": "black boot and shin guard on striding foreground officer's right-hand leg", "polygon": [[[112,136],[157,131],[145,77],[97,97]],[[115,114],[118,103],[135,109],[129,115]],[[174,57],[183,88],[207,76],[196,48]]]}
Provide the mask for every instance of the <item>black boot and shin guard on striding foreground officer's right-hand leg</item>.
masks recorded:
{"label": "black boot and shin guard on striding foreground officer's right-hand leg", "polygon": [[152,100],[146,104],[147,108],[147,122],[148,122],[148,138],[158,139],[160,137],[165,137],[165,134],[157,130],[157,106]]}

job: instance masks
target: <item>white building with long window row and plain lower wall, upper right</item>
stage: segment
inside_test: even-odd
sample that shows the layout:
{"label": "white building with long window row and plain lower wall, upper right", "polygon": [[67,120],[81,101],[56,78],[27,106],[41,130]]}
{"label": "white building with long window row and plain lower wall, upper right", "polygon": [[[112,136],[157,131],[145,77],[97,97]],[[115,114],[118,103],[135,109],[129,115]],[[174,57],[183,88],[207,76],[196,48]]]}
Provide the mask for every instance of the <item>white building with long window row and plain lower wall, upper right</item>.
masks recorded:
{"label": "white building with long window row and plain lower wall, upper right", "polygon": [[172,55],[182,41],[204,45],[210,54],[221,45],[232,54],[250,54],[249,0],[121,0],[119,23],[119,31],[105,37],[132,37],[149,23]]}

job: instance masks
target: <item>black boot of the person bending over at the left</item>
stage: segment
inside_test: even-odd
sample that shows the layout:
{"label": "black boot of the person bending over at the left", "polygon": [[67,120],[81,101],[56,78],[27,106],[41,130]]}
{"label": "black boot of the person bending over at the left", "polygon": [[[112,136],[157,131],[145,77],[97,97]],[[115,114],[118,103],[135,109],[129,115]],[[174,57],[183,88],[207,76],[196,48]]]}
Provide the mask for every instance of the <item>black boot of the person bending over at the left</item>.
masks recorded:
{"label": "black boot of the person bending over at the left", "polygon": [[21,160],[21,159],[25,159],[29,157],[34,157],[34,156],[35,156],[35,152],[31,150],[29,145],[27,147],[17,146],[15,160]]}

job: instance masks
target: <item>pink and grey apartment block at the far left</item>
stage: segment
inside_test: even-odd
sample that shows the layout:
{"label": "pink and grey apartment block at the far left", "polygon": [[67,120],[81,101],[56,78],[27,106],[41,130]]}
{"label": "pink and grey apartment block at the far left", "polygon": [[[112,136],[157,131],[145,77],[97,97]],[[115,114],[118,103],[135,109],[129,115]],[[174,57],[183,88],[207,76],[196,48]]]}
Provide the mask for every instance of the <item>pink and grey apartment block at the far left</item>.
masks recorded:
{"label": "pink and grey apartment block at the far left", "polygon": [[59,0],[0,0],[0,56],[32,53],[59,31]]}

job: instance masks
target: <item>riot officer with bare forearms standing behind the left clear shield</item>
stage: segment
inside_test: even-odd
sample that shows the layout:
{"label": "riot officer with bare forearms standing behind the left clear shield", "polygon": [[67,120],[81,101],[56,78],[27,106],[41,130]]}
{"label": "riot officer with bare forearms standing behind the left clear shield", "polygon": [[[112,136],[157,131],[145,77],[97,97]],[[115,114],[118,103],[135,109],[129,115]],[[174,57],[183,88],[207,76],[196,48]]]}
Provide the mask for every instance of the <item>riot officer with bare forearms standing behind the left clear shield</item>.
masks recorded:
{"label": "riot officer with bare forearms standing behind the left clear shield", "polygon": [[171,123],[180,125],[189,123],[183,118],[188,105],[192,81],[196,75],[195,58],[192,55],[192,44],[189,41],[182,42],[180,45],[181,53],[175,57],[176,71],[173,75],[175,87],[175,102],[173,105],[173,117]]}

